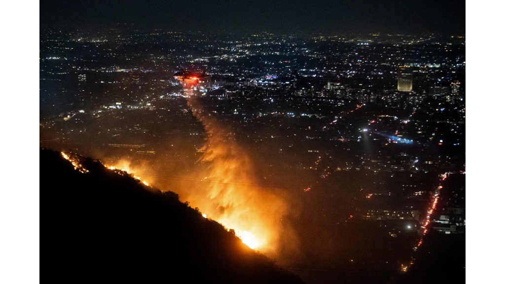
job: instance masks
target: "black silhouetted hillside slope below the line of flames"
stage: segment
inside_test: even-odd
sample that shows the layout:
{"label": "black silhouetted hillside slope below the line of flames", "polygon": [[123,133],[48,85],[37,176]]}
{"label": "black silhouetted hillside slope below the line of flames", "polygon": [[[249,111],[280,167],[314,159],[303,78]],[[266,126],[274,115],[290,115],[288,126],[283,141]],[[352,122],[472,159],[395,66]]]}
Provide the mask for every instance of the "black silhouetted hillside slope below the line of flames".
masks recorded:
{"label": "black silhouetted hillside slope below the line of flames", "polygon": [[40,150],[46,278],[173,283],[301,283],[233,232],[134,178]]}

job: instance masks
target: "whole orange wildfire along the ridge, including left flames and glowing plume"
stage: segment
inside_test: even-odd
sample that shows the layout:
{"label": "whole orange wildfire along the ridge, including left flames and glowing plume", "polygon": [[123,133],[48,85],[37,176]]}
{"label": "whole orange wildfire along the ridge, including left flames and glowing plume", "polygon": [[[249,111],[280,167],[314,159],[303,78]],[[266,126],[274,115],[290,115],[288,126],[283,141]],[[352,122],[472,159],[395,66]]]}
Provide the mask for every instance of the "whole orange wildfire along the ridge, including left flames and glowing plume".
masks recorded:
{"label": "whole orange wildfire along the ridge, including left flames and glowing plume", "polygon": [[[238,238],[251,249],[261,249],[266,253],[274,252],[279,236],[278,233],[274,233],[273,228],[281,228],[280,218],[275,217],[284,215],[286,211],[282,200],[271,193],[259,193],[258,188],[254,186],[237,185],[236,181],[243,184],[253,183],[247,156],[226,135],[222,135],[223,131],[217,131],[218,128],[213,126],[212,122],[199,119],[209,133],[208,151],[205,152],[201,162],[210,163],[212,170],[209,178],[220,182],[209,183],[207,191],[199,191],[198,195],[190,194],[187,199],[193,206],[207,213],[202,214],[203,217],[209,216],[228,230],[233,229]],[[76,170],[82,173],[88,172],[78,159],[64,152],[61,154]],[[134,174],[145,172],[145,166],[135,167],[126,160],[120,160],[114,163],[114,166],[106,164],[104,166],[119,174],[131,175],[149,186],[147,181]],[[234,182],[230,182],[231,180]],[[205,194],[201,194],[202,192]]]}

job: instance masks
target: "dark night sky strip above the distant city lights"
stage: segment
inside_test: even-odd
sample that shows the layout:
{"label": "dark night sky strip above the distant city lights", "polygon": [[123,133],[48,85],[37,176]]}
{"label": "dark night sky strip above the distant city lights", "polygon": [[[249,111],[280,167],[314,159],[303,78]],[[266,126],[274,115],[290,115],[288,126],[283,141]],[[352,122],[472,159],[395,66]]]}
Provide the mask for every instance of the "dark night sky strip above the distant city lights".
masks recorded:
{"label": "dark night sky strip above the distant city lights", "polygon": [[464,1],[40,1],[40,27],[136,24],[180,31],[465,34]]}

